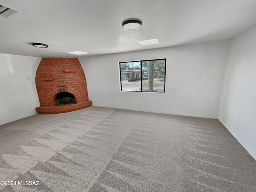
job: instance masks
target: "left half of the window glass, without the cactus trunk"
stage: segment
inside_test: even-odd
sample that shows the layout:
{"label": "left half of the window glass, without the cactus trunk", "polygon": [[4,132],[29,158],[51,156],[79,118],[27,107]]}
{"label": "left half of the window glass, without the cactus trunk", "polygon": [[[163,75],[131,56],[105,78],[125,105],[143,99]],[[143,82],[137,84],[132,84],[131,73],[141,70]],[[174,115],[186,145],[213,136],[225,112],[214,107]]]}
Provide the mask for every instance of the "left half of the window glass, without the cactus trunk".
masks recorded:
{"label": "left half of the window glass, without the cactus trunk", "polygon": [[122,91],[141,91],[140,68],[140,62],[120,63]]}

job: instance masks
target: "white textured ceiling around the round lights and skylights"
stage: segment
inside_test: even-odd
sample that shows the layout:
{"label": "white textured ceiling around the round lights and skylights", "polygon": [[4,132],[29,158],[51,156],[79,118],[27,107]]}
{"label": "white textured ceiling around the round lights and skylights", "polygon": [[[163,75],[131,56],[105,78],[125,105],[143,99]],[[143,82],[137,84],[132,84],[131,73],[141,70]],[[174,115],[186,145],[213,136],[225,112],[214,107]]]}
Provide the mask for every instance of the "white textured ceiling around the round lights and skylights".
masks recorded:
{"label": "white textured ceiling around the round lights and skylights", "polygon": [[[83,57],[229,39],[256,24],[255,0],[0,0],[0,53]],[[122,22],[142,21],[138,31]],[[160,44],[137,41],[158,38]],[[48,44],[36,48],[32,42]],[[89,54],[76,56],[72,51]]]}

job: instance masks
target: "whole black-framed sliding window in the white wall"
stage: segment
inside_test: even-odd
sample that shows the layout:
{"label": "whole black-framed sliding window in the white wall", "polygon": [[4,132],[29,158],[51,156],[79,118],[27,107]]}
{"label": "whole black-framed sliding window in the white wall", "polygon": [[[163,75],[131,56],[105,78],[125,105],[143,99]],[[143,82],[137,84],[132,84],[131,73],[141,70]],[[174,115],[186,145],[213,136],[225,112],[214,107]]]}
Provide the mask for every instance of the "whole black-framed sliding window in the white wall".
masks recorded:
{"label": "whole black-framed sliding window in the white wall", "polygon": [[121,91],[165,92],[166,59],[120,62]]}

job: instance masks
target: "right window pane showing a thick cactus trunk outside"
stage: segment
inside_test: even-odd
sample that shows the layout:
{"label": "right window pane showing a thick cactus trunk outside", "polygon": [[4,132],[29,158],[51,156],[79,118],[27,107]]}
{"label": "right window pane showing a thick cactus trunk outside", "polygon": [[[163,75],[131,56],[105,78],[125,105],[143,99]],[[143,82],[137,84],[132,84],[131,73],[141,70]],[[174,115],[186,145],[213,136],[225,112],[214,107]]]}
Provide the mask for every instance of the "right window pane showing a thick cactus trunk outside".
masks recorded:
{"label": "right window pane showing a thick cactus trunk outside", "polygon": [[142,62],[142,91],[164,92],[166,60],[149,60]]}

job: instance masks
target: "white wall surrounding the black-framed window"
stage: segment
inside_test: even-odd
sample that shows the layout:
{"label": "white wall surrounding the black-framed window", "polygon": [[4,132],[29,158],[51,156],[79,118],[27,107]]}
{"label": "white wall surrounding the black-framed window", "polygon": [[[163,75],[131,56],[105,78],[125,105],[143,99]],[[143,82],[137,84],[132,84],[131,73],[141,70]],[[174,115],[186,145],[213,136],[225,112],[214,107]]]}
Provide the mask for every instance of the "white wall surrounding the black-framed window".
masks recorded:
{"label": "white wall surrounding the black-framed window", "polygon": [[[93,106],[218,118],[229,45],[225,40],[79,60]],[[165,93],[120,92],[118,62],[160,58],[166,58]]]}

